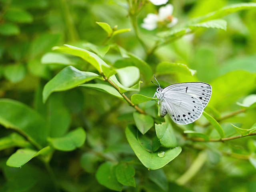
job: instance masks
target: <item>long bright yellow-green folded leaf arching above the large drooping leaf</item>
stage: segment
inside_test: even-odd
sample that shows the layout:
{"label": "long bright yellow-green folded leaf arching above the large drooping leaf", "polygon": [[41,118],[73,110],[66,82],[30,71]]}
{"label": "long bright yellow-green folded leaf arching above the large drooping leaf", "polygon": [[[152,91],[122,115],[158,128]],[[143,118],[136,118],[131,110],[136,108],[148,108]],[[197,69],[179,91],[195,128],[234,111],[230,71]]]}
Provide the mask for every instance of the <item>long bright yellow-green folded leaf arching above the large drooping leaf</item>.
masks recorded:
{"label": "long bright yellow-green folded leaf arching above the large drooping leaf", "polygon": [[96,54],[82,48],[78,48],[72,45],[64,45],[60,47],[54,47],[52,49],[81,57],[82,59],[90,63],[92,66],[94,66],[98,70],[98,72],[102,72],[102,69],[101,69],[102,65],[108,67],[108,65]]}

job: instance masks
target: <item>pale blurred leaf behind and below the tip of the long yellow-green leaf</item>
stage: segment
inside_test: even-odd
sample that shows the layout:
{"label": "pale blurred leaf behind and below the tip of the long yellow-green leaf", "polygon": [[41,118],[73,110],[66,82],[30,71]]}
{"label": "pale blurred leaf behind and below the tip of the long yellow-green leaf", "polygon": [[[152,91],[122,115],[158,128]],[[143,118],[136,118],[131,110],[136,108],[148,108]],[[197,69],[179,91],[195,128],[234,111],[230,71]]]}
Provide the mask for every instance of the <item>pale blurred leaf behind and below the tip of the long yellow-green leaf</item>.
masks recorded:
{"label": "pale blurred leaf behind and below the tip of the long yellow-green leaf", "polygon": [[67,56],[60,53],[46,53],[41,58],[42,64],[58,64],[62,66],[75,65]]}

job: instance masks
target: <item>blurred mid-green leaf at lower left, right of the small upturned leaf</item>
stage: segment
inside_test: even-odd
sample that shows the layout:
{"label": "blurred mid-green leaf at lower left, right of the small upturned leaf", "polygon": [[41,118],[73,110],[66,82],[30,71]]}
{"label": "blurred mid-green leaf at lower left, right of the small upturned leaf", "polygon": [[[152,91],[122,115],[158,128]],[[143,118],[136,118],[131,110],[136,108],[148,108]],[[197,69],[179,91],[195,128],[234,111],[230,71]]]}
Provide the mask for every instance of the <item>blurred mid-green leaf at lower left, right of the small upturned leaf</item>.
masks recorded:
{"label": "blurred mid-green leaf at lower left, right of the small upturned leaf", "polygon": [[48,138],[50,145],[60,151],[72,151],[81,147],[86,139],[86,133],[82,127],[70,131],[63,137]]}

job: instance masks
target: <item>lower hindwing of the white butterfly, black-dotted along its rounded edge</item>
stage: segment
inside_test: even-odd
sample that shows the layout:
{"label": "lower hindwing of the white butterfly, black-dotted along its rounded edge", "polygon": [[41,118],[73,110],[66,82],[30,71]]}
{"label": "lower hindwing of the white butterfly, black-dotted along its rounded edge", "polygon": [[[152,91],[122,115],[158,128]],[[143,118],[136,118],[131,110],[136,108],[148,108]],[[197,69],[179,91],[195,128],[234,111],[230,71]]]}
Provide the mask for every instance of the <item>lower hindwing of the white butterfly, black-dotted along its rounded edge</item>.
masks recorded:
{"label": "lower hindwing of the white butterfly, black-dotted along its rounded edge", "polygon": [[188,93],[169,90],[160,99],[161,104],[177,124],[190,124],[197,120],[204,110],[202,102]]}

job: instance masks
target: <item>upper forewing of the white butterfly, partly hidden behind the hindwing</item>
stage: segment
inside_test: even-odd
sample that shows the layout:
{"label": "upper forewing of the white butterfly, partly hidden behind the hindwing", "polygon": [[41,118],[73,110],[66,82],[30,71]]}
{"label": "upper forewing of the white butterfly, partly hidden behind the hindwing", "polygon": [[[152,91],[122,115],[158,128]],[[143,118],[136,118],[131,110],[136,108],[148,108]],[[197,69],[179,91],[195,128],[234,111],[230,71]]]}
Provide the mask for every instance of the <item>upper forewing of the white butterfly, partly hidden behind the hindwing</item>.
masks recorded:
{"label": "upper forewing of the white butterfly, partly hidden behind the hindwing", "polygon": [[178,91],[190,94],[198,100],[200,100],[204,108],[208,104],[212,95],[212,87],[204,82],[187,82],[172,84],[164,88],[162,90],[162,93],[165,94],[169,91]]}

